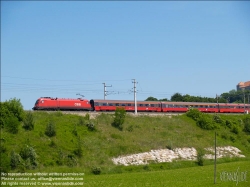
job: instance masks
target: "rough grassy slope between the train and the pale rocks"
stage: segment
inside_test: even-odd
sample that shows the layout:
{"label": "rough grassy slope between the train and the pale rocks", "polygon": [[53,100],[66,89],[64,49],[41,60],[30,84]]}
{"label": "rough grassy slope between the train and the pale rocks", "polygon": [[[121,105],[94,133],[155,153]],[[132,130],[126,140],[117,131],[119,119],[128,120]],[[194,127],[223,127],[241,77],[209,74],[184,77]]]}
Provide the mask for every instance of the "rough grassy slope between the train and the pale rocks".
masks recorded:
{"label": "rough grassy slope between the train and the pale rocks", "polygon": [[[100,114],[94,119],[61,112],[34,112],[34,130],[19,127],[18,134],[4,129],[1,138],[6,148],[4,154],[20,154],[25,147],[32,147],[37,155],[35,170],[81,170],[90,173],[101,168],[104,173],[116,172],[112,158],[121,155],[142,153],[156,149],[194,147],[196,149],[214,146],[214,131],[198,127],[185,114],[179,116],[133,116],[127,115],[123,130],[111,126],[113,114]],[[222,116],[238,125],[239,131],[228,127],[216,129],[218,146],[234,146],[247,159],[250,156],[250,136],[243,131],[243,115]],[[55,125],[56,135],[45,135],[46,126]],[[94,129],[87,126],[94,124]],[[6,161],[7,162],[7,161]],[[13,171],[29,170],[24,166]],[[50,169],[49,169],[50,168]]]}

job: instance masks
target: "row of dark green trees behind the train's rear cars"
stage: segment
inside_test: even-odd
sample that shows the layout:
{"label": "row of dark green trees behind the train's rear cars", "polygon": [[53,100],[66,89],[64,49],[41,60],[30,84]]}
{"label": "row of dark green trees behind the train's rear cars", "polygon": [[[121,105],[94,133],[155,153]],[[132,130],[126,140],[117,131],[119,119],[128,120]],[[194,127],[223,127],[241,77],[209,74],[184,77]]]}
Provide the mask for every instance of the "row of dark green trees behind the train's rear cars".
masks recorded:
{"label": "row of dark green trees behind the train's rear cars", "polygon": [[171,96],[171,99],[157,99],[155,97],[148,97],[145,101],[178,101],[178,102],[207,102],[207,103],[250,103],[250,90],[245,90],[244,92],[239,90],[231,90],[228,93],[223,93],[221,95],[215,96],[214,98],[201,97],[201,96],[191,96],[188,94],[182,95],[180,93],[175,93]]}

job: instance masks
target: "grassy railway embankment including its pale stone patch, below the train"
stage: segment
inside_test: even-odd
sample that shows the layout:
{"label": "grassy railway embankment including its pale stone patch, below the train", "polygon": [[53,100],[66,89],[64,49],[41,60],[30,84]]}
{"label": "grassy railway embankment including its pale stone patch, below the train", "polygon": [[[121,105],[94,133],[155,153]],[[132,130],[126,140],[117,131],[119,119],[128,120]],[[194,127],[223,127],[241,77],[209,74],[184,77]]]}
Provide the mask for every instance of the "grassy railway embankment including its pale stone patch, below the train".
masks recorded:
{"label": "grassy railway embankment including its pale stone patch, below the train", "polygon": [[[124,166],[126,164],[150,165],[163,162],[172,164],[164,166],[166,169],[187,167],[187,164],[181,161],[189,160],[189,163],[195,165],[197,150],[214,146],[215,132],[218,147],[238,148],[241,150],[238,153],[245,156],[239,159],[250,158],[250,134],[245,131],[244,126],[246,115],[209,114],[200,121],[200,123],[216,123],[215,129],[202,129],[203,123],[198,126],[197,122],[186,114],[169,117],[169,115],[127,113],[122,129],[112,126],[113,113],[65,114],[35,111],[32,112],[32,116],[34,120],[32,129],[25,129],[21,123],[15,134],[10,133],[5,127],[1,131],[2,163],[8,164],[11,159],[16,161],[15,158],[18,157],[22,164],[17,163],[15,168],[9,165],[10,171],[62,172],[73,169],[90,174],[93,168],[100,168],[101,173],[119,173],[128,171],[127,166]],[[49,127],[53,127],[53,134],[48,133],[48,129],[52,129]],[[32,150],[32,154],[35,155],[36,162],[32,167],[27,158],[22,157],[24,150]],[[212,150],[207,150],[206,154],[213,156]],[[114,158],[121,158],[117,161],[120,165],[114,163],[112,160]],[[175,162],[168,162],[178,159],[180,160],[178,165]],[[230,160],[219,155],[218,159],[220,163]],[[205,162],[206,164],[211,162]],[[129,167],[143,170],[140,165]],[[155,167],[155,170],[157,169],[160,167]],[[134,168],[132,170],[134,171]]]}

